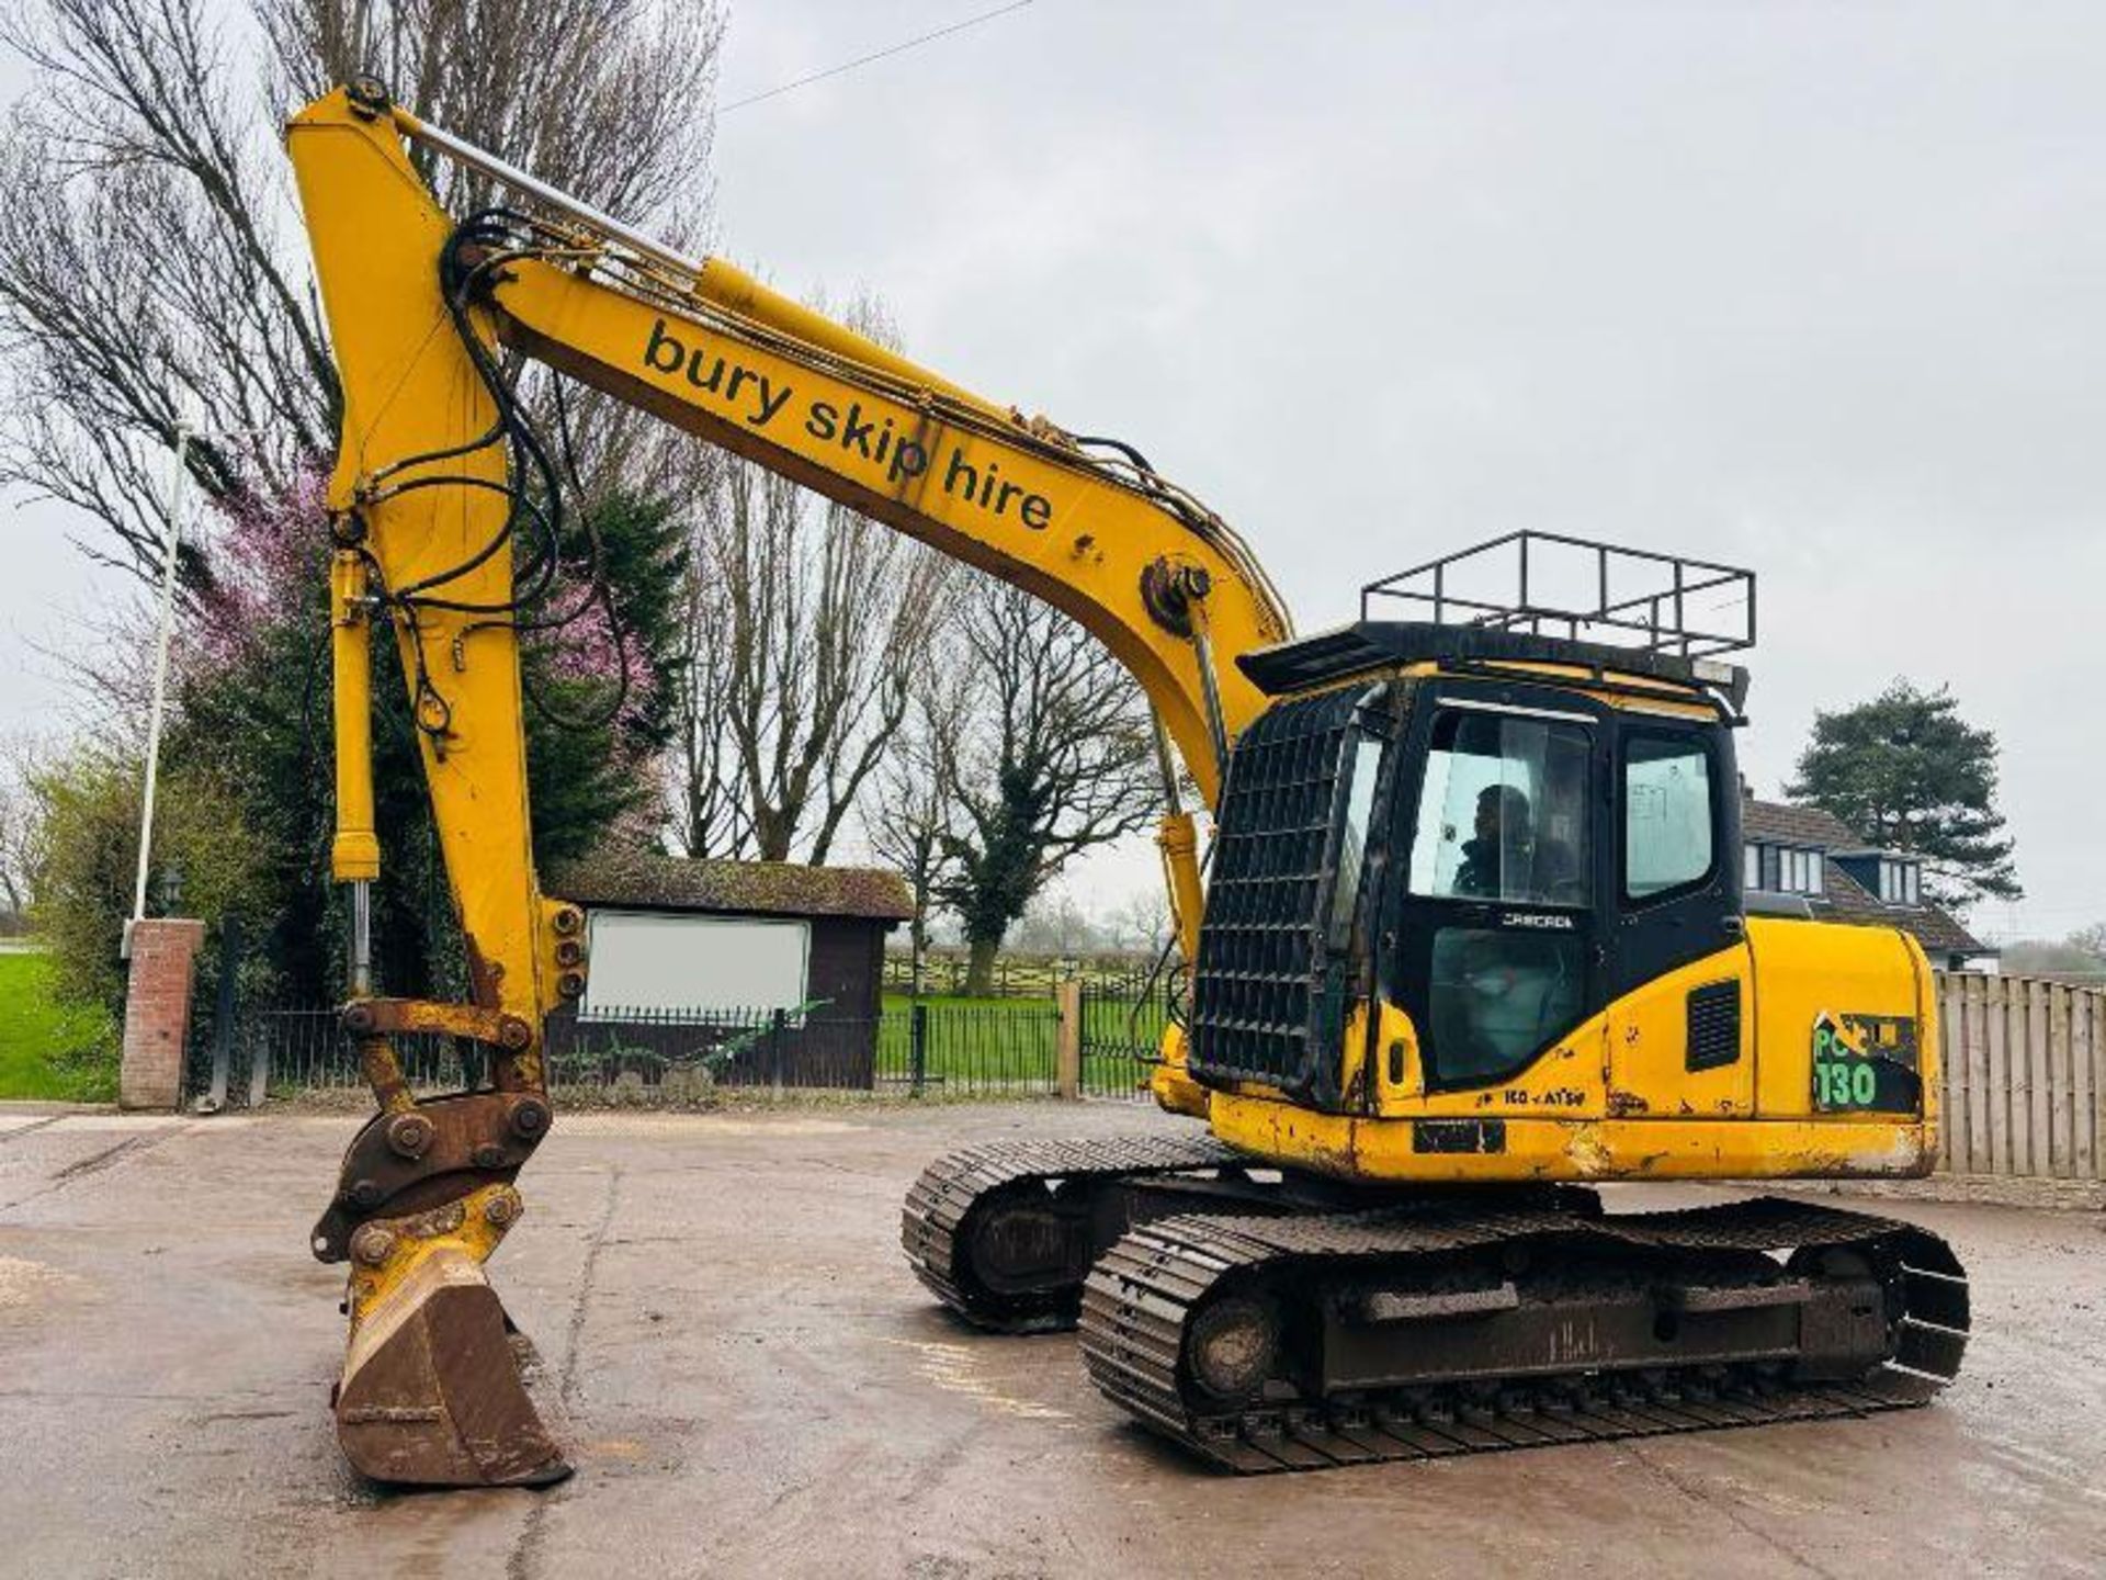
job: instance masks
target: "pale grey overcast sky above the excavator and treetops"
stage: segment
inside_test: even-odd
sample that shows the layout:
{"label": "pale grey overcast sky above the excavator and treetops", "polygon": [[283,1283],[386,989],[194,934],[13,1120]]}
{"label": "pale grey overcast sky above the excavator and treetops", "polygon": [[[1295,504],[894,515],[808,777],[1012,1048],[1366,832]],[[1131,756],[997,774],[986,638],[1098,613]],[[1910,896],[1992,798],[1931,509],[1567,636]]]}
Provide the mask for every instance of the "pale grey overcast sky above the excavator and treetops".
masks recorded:
{"label": "pale grey overcast sky above the excavator and treetops", "polygon": [[[748,0],[722,99],[981,8]],[[1756,788],[1950,683],[2028,889],[1975,921],[2060,935],[2106,919],[2100,82],[2095,4],[1036,0],[729,112],[716,225],[1137,445],[1304,630],[1516,527],[1752,567]],[[0,725],[95,596],[63,527],[0,518]]]}

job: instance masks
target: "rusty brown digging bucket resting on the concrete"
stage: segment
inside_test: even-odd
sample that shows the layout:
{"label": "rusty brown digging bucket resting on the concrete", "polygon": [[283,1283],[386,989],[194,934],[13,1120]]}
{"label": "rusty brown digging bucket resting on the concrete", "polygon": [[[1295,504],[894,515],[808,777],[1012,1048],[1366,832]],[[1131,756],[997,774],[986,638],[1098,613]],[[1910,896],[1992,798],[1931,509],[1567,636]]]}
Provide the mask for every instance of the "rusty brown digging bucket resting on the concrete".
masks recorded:
{"label": "rusty brown digging bucket resting on the concrete", "polygon": [[505,1308],[474,1258],[425,1256],[352,1329],[337,1441],[366,1477],[421,1487],[543,1487],[571,1475],[541,1424]]}

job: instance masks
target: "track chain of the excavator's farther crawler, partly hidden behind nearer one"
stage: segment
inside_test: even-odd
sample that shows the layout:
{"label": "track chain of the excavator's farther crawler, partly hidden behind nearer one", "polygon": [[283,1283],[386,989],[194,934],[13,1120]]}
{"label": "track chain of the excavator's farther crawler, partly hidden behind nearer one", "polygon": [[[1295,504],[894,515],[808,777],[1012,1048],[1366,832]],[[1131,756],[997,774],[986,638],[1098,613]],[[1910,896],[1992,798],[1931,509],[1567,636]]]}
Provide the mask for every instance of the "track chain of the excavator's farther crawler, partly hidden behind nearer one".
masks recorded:
{"label": "track chain of the excavator's farther crawler, partly hidden behind nearer one", "polygon": [[941,1157],[922,1169],[899,1213],[899,1243],[935,1296],[967,1321],[1021,1334],[1074,1327],[1072,1317],[1034,1310],[1015,1315],[956,1277],[958,1230],[973,1205],[1021,1180],[1133,1178],[1249,1163],[1211,1135],[1129,1135],[1093,1142],[992,1142]]}

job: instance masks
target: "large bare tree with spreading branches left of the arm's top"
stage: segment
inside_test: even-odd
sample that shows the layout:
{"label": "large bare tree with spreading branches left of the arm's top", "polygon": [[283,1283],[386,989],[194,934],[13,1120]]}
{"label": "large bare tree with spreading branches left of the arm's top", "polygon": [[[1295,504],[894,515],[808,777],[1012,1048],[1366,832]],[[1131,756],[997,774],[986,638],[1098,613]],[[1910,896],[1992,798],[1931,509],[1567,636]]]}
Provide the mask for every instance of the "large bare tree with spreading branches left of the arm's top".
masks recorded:
{"label": "large bare tree with spreading branches left of the arm's top", "polygon": [[[196,445],[213,497],[326,449],[335,369],[261,143],[223,93],[192,0],[25,0],[0,21],[32,88],[0,145],[0,476],[105,529],[93,554],[160,565],[156,453],[183,407],[251,455]],[[114,539],[114,541],[110,541]],[[192,571],[202,562],[192,558]]]}

